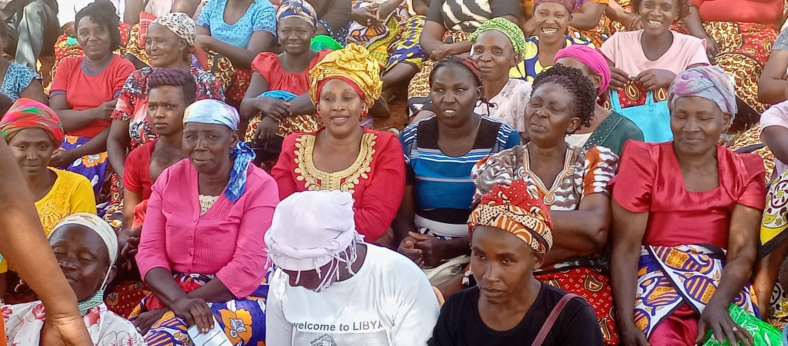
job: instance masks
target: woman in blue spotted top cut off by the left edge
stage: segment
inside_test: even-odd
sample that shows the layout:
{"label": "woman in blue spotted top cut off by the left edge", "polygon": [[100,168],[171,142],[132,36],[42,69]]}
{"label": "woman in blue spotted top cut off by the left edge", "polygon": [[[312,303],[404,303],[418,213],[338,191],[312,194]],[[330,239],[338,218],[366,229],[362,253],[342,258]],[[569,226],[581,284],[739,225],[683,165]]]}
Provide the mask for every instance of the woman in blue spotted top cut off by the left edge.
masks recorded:
{"label": "woman in blue spotted top cut off by the left edge", "polygon": [[[6,47],[6,42],[11,40],[8,24],[0,21],[0,47]],[[13,101],[19,98],[32,99],[46,104],[46,94],[41,84],[41,76],[24,65],[0,57],[0,94],[8,96]]]}

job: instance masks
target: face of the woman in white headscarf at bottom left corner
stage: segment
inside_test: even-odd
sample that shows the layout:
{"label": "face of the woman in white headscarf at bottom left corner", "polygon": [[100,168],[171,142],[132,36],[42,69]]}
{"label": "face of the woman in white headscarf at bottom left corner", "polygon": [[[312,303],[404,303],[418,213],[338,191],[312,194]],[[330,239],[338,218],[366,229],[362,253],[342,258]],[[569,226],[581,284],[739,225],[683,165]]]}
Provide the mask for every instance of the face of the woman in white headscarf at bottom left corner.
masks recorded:
{"label": "face of the woman in white headscarf at bottom left corner", "polygon": [[[101,288],[110,270],[110,252],[95,231],[83,225],[63,225],[53,231],[50,246],[77,300],[90,298]],[[113,267],[106,281],[114,276]]]}

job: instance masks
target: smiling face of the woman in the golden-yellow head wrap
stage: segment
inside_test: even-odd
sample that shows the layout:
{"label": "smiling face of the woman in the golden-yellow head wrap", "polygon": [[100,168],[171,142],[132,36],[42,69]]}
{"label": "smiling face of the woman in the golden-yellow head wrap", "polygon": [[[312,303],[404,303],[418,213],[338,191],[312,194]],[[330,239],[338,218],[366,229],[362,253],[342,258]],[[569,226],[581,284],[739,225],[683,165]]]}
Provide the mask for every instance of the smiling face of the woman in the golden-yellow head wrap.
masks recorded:
{"label": "smiling face of the woman in the golden-yellow head wrap", "polygon": [[366,103],[351,84],[338,78],[327,80],[318,97],[315,109],[332,136],[344,138],[359,130]]}

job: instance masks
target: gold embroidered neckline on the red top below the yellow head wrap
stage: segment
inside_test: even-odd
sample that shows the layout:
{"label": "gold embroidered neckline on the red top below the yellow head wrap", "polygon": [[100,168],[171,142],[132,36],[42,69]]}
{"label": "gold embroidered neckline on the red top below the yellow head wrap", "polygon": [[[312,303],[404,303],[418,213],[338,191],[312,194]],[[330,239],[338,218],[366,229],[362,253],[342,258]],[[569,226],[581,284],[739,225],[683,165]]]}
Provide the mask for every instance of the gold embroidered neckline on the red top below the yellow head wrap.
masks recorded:
{"label": "gold embroidered neckline on the red top below the yellow head wrap", "polygon": [[303,180],[304,187],[308,190],[342,190],[353,193],[355,185],[359,184],[359,178],[366,179],[366,173],[372,170],[370,164],[375,153],[377,135],[372,132],[364,133],[359,156],[355,161],[348,168],[331,173],[314,166],[315,139],[315,135],[303,135],[296,139],[296,179]]}

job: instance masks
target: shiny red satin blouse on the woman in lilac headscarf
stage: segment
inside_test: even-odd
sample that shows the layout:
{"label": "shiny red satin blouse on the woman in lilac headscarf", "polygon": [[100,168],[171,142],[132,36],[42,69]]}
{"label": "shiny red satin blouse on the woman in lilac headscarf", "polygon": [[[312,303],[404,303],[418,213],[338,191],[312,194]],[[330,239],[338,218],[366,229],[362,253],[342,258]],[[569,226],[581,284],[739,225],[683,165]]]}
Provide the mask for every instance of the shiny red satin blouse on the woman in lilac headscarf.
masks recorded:
{"label": "shiny red satin blouse on the woman in lilac headscarf", "polygon": [[673,142],[626,142],[619,175],[611,182],[613,199],[633,213],[649,212],[644,245],[727,248],[734,206],[764,209],[766,171],[761,158],[718,146],[717,162],[719,187],[688,192]]}

